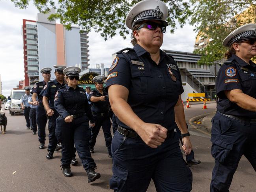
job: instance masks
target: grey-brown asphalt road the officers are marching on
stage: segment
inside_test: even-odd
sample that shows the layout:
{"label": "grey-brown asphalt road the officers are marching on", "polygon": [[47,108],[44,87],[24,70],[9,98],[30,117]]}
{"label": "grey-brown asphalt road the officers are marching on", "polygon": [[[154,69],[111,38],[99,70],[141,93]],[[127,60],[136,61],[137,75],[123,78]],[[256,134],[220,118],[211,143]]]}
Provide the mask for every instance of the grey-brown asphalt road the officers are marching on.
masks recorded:
{"label": "grey-brown asphalt road the officers are marching on", "polygon": [[[187,121],[194,116],[215,111],[216,104],[207,104],[207,110],[202,110],[202,104],[192,105],[185,109]],[[92,154],[97,164],[101,178],[88,184],[86,173],[80,159],[78,166],[71,166],[73,177],[64,177],[59,167],[61,152],[54,153],[54,158],[46,159],[47,149],[38,149],[37,135],[32,135],[26,129],[24,116],[10,116],[7,132],[0,134],[0,192],[108,192],[109,179],[112,175],[112,161],[108,158],[107,147],[102,130],[97,138],[95,153]],[[192,192],[207,192],[211,181],[211,171],[214,159],[211,157],[211,142],[209,135],[199,132],[189,126],[195,158],[201,164],[191,167],[193,173]],[[48,144],[48,138],[46,145]],[[234,175],[230,192],[255,192],[256,173],[245,157],[242,157]],[[151,182],[148,192],[155,192]]]}

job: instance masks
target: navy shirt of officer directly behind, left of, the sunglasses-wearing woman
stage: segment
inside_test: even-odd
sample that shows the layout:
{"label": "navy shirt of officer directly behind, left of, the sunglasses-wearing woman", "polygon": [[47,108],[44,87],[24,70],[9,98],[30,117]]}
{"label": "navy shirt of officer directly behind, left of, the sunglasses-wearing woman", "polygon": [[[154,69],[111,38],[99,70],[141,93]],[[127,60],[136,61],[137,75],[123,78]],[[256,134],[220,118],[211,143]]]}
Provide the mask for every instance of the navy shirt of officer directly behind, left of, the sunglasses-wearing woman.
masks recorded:
{"label": "navy shirt of officer directly behind, left of, the sunglasses-wearing woman", "polygon": [[46,86],[41,91],[40,95],[45,96],[49,99],[49,106],[51,109],[54,109],[54,97],[57,90],[65,85],[64,81],[63,84],[60,84],[57,79],[54,79],[51,82],[48,82]]}

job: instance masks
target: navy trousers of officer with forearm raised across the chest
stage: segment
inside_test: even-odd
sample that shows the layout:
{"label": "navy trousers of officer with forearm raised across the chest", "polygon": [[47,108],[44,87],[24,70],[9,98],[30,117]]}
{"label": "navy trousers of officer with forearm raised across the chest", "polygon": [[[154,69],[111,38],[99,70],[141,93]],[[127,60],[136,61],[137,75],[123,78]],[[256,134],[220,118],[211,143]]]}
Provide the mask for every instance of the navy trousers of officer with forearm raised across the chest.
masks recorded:
{"label": "navy trousers of officer with forearm raised across the chest", "polygon": [[110,117],[108,114],[105,114],[104,116],[93,116],[95,119],[95,126],[91,127],[91,140],[90,140],[90,147],[93,148],[96,144],[96,138],[99,134],[99,130],[101,129],[104,133],[106,147],[108,148],[108,154],[111,155],[111,141],[112,141],[112,135],[110,132],[111,128],[111,122]]}

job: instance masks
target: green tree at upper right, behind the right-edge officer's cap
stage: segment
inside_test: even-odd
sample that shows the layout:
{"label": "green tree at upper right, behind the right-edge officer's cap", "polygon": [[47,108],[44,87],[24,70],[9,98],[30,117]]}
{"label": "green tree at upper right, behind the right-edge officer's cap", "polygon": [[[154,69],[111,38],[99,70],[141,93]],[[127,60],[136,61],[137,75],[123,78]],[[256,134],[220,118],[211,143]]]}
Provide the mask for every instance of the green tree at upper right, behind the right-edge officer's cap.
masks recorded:
{"label": "green tree at upper right, behind the right-edge officer's cap", "polygon": [[[199,64],[212,64],[224,58],[227,48],[222,46],[224,38],[235,28],[256,21],[256,0],[190,0],[192,17],[199,35],[213,39],[206,48],[196,50],[202,54]],[[250,9],[247,9],[251,7]]]}

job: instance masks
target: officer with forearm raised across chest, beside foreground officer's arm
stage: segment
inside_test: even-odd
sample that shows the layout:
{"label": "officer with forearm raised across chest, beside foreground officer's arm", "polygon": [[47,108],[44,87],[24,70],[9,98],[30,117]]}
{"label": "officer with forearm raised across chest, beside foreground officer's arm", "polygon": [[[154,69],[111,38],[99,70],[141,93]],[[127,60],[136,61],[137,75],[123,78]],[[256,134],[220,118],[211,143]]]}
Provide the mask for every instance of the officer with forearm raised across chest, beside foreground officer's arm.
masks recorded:
{"label": "officer with forearm raised across chest, beside foreground officer's arm", "polygon": [[102,126],[106,146],[108,148],[108,157],[111,157],[111,122],[108,116],[108,93],[103,89],[104,76],[98,75],[93,77],[92,80],[95,83],[96,89],[91,92],[89,101],[92,102],[91,110],[93,117],[95,118],[95,126],[91,129],[90,151],[91,153],[94,153],[93,147],[95,146],[99,129]]}

